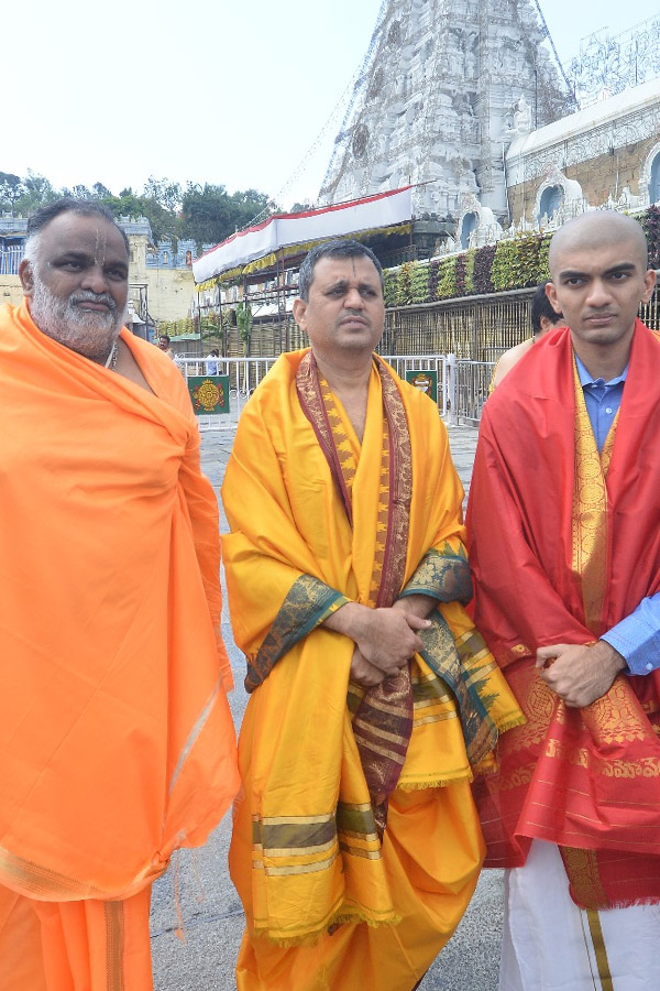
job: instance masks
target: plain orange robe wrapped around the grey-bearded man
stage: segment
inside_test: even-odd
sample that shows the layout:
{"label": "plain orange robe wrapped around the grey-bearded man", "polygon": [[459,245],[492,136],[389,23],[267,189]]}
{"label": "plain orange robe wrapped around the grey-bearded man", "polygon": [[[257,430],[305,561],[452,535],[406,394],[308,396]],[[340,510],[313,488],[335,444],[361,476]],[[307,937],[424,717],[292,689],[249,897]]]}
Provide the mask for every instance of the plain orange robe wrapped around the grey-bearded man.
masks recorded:
{"label": "plain orange robe wrapped around the grey-bearded man", "polygon": [[199,432],[173,362],[122,340],[153,394],[0,309],[0,968],[13,895],[41,903],[57,991],[92,958],[116,987],[152,881],[239,783]]}

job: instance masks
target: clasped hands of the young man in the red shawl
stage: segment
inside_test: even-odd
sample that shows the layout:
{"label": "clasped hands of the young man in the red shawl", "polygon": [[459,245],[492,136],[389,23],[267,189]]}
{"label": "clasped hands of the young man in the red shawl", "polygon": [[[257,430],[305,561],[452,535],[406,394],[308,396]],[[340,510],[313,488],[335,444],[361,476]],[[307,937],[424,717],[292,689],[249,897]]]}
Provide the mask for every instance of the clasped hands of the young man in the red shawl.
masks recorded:
{"label": "clasped hands of the young man in the red shawl", "polygon": [[626,661],[607,641],[597,640],[592,645],[556,643],[539,647],[536,666],[566,706],[583,709],[605,695]]}

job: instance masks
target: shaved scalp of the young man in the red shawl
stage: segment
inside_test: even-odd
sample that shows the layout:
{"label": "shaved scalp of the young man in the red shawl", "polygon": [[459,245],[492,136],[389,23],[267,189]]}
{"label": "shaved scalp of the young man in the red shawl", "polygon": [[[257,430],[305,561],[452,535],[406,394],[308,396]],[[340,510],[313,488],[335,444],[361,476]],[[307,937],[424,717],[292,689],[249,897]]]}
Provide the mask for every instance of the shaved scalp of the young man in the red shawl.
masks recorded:
{"label": "shaved scalp of the young man in the red shawl", "polygon": [[593,210],[569,220],[550,241],[549,265],[552,280],[557,279],[562,255],[575,255],[584,251],[597,251],[603,244],[623,243],[632,248],[642,269],[648,265],[648,247],[641,225],[615,210]]}

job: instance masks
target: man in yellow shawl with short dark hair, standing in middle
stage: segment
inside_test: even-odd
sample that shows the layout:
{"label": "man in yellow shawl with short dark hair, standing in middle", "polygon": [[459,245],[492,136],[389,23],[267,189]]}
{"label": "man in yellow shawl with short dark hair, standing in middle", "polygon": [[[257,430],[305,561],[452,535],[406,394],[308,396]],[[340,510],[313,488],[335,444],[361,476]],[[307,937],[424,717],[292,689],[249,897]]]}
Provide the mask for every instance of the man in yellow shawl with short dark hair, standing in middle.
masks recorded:
{"label": "man in yellow shawl with short dark hair, standing in middle", "polygon": [[[374,353],[382,272],[314,249],[223,500],[251,698],[232,879],[239,991],[411,991],[484,856],[470,780],[520,716],[463,605],[462,490],[429,399]],[[428,618],[427,618],[428,617]]]}

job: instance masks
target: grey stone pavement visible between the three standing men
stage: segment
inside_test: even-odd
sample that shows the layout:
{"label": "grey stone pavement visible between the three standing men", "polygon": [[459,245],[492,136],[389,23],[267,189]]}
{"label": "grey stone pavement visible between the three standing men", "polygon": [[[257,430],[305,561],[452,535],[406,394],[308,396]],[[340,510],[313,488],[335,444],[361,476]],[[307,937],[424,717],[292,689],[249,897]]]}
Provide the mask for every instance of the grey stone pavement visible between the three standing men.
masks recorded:
{"label": "grey stone pavement visible between the three standing men", "polygon": [[[476,431],[451,426],[449,437],[454,464],[468,490]],[[209,431],[202,438],[204,469],[213,484],[219,486],[233,433]],[[226,521],[222,525],[227,525]],[[243,658],[233,643],[227,613],[222,632],[234,671],[237,687],[230,703],[239,727],[246,703]],[[233,968],[243,930],[243,912],[227,867],[230,832],[231,817],[227,815],[202,850],[183,851],[154,885],[151,922],[156,991],[232,991],[235,988]],[[184,941],[176,935],[182,921]],[[429,970],[421,991],[495,991],[501,937],[502,874],[485,871],[459,929]]]}

